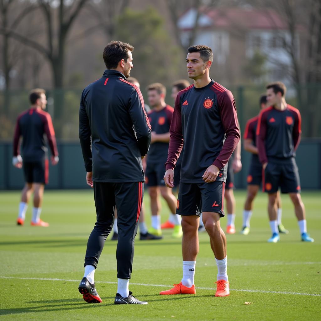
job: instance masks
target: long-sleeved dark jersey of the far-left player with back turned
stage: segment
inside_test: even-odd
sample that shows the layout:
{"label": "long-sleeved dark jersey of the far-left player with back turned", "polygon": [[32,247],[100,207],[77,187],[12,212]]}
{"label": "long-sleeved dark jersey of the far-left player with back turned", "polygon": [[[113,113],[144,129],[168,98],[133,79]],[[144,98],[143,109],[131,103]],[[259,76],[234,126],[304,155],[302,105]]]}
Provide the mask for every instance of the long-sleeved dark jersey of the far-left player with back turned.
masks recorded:
{"label": "long-sleeved dark jersey of the far-left player with back turned", "polygon": [[25,161],[41,161],[47,157],[47,135],[53,156],[58,156],[54,126],[50,114],[40,108],[30,108],[19,115],[13,138],[13,156],[19,154],[19,138],[22,136],[21,154]]}

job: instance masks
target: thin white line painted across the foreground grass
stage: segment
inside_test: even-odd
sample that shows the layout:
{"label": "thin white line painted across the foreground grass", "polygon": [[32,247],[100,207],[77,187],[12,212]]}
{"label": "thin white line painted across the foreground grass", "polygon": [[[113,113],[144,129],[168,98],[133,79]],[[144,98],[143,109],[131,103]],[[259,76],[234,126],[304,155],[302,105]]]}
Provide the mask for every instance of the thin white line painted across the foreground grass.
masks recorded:
{"label": "thin white line painted across the foreground grass", "polygon": [[[0,276],[0,279],[79,282],[79,280],[54,279],[54,278],[22,278],[22,277],[14,277],[14,276]],[[117,282],[110,282],[110,281],[97,281],[95,283],[117,284]],[[166,285],[166,284],[145,284],[145,283],[130,283],[130,284],[141,285],[141,286],[156,286],[156,287],[162,287],[162,288],[172,287],[172,285]],[[211,291],[216,290],[216,288],[204,288],[204,287],[195,287],[195,289],[211,290]],[[312,297],[321,297],[321,294],[316,294],[316,293],[300,293],[300,292],[287,292],[287,291],[263,291],[263,290],[248,290],[248,289],[230,289],[230,290],[231,291],[239,291],[239,292],[277,293],[277,294],[307,295],[307,296],[312,296]]]}

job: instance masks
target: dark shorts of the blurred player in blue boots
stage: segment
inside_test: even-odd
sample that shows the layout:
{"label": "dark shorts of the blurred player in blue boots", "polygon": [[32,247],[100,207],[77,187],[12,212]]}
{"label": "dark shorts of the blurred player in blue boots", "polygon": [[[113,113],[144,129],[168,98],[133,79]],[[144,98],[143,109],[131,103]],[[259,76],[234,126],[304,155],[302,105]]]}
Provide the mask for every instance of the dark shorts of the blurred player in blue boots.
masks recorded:
{"label": "dark shorts of the blurred player in blue boots", "polygon": [[282,193],[299,193],[300,177],[295,159],[284,162],[269,161],[263,177],[263,192],[276,193],[281,188]]}

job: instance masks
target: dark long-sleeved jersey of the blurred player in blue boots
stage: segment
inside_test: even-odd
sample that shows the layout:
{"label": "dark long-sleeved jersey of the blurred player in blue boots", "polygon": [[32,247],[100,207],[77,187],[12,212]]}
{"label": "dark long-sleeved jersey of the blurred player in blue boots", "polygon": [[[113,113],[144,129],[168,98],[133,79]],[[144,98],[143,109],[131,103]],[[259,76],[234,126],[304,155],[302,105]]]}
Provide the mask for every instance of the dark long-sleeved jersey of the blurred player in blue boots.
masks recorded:
{"label": "dark long-sleeved jersey of the blurred player in blue boots", "polygon": [[256,128],[256,145],[262,164],[268,160],[284,161],[295,157],[301,137],[301,115],[297,108],[285,110],[268,107],[260,112]]}

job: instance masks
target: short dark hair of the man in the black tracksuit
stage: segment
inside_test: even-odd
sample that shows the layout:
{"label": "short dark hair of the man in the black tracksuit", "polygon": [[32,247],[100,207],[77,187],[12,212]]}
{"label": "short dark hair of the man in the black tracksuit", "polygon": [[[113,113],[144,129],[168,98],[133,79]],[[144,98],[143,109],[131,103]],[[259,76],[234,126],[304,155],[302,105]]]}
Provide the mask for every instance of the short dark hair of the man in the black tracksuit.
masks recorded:
{"label": "short dark hair of the man in the black tracksuit", "polygon": [[110,41],[104,48],[102,57],[107,69],[116,68],[119,61],[124,59],[127,62],[128,50],[133,51],[134,47],[127,42]]}

